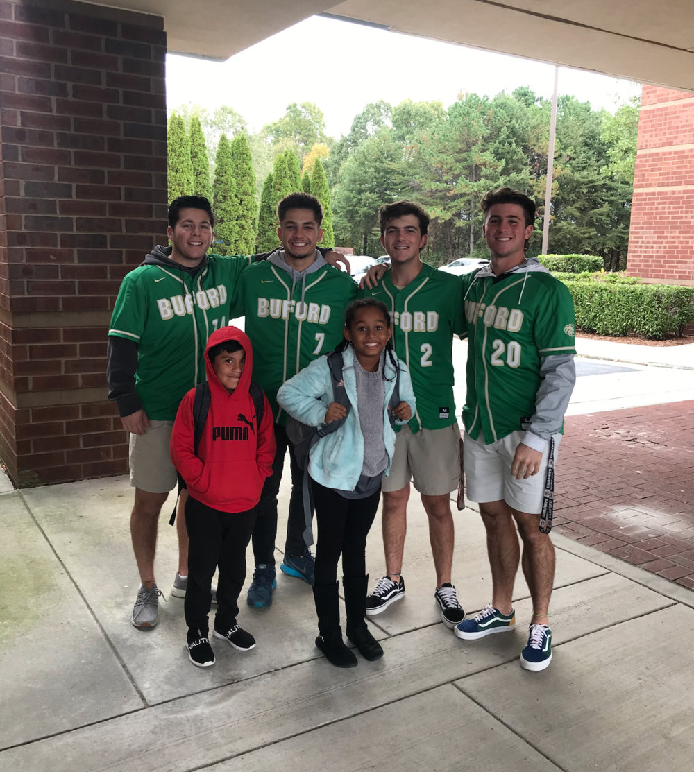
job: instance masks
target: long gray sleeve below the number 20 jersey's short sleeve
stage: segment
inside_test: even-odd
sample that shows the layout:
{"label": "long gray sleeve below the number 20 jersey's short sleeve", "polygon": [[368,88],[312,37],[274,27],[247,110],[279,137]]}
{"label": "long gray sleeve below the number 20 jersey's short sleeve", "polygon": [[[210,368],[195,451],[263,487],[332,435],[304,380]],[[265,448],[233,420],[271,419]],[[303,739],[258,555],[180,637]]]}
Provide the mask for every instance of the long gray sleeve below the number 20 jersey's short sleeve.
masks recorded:
{"label": "long gray sleeve below the number 20 jersey's short sleeve", "polygon": [[564,413],[576,384],[573,354],[542,357],[539,371],[542,381],[537,390],[535,415],[530,419],[529,431],[522,442],[534,450],[544,452],[549,438],[562,428]]}

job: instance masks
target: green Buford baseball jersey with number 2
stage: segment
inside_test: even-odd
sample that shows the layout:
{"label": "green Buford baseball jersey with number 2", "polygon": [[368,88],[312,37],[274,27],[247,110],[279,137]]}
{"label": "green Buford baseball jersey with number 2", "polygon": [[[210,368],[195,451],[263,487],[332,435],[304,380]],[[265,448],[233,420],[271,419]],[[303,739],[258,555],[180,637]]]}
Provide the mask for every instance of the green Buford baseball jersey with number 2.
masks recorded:
{"label": "green Buford baseball jersey with number 2", "polygon": [[413,433],[454,424],[453,334],[465,330],[460,277],[425,263],[417,279],[398,289],[389,270],[378,286],[365,286],[359,297],[373,297],[390,310],[393,348],[410,368],[417,398],[410,420]]}

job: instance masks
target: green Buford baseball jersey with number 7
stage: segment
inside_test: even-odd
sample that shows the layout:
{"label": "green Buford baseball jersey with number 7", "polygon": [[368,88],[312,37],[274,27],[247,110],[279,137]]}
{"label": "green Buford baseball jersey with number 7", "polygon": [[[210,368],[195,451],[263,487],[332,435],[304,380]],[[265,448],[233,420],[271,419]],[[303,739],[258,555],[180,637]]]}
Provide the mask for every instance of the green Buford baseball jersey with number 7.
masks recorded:
{"label": "green Buford baseball jersey with number 7", "polygon": [[[356,296],[349,273],[321,266],[297,282],[271,262],[255,262],[241,273],[230,315],[246,317],[253,344],[253,380],[270,401],[274,421],[287,423],[277,405],[277,389],[342,340],[345,309]],[[303,293],[303,295],[302,295]]]}

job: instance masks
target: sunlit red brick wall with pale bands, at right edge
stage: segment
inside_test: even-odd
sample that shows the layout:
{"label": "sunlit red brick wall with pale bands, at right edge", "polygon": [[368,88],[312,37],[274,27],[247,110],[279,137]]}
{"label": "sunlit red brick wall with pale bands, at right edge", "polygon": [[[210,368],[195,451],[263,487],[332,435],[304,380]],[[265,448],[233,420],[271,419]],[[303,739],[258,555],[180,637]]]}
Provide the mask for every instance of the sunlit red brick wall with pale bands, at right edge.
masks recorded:
{"label": "sunlit red brick wall with pale bands, at right edge", "polygon": [[694,285],[694,93],[643,86],[627,267]]}

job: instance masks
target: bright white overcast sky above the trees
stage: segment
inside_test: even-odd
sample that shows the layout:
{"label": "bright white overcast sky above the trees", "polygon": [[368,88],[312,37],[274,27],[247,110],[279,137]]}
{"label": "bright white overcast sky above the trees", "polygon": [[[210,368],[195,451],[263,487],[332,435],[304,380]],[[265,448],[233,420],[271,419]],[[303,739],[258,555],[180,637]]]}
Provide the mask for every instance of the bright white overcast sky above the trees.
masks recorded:
{"label": "bright white overcast sky above the trees", "polygon": [[[298,54],[294,70],[292,52]],[[338,63],[321,63],[321,53],[333,61],[338,56]],[[166,91],[169,108],[230,105],[250,130],[277,120],[291,102],[313,102],[325,113],[328,134],[339,138],[369,102],[395,105],[410,97],[441,100],[448,107],[461,90],[493,97],[517,86],[530,86],[549,98],[553,73],[552,65],[531,59],[313,16],[224,63],[167,54]],[[559,90],[614,111],[640,94],[641,86],[562,67]]]}

